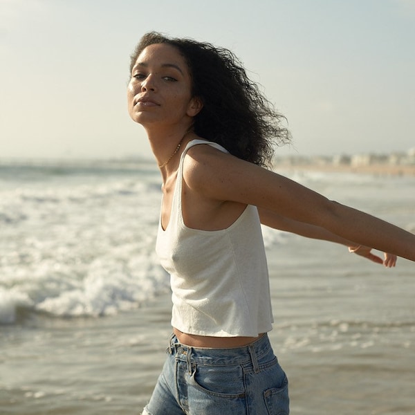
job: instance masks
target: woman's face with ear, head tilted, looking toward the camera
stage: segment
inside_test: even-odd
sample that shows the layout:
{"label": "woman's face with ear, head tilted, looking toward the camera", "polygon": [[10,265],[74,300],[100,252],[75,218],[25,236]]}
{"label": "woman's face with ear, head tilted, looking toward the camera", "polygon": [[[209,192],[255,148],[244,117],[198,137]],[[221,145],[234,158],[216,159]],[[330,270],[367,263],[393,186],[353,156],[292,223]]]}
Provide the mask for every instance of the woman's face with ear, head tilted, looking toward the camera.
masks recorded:
{"label": "woman's face with ear, head tilted, looking toward the camera", "polygon": [[138,55],[127,89],[131,118],[149,124],[189,123],[201,109],[192,97],[192,77],[185,58],[169,44],[147,46]]}

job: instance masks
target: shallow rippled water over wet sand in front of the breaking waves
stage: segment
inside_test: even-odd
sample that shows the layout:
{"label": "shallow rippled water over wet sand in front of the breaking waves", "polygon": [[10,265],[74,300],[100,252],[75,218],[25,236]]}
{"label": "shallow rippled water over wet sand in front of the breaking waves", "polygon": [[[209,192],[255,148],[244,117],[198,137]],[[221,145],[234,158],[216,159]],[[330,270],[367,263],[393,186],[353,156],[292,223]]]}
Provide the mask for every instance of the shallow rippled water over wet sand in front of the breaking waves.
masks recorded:
{"label": "shallow rippled water over wet sand in front of the breaking waves", "polygon": [[[387,270],[298,238],[270,258],[270,278],[270,340],[292,414],[414,413],[413,264]],[[163,365],[169,310],[165,294],[98,320],[3,327],[1,414],[139,414]]]}

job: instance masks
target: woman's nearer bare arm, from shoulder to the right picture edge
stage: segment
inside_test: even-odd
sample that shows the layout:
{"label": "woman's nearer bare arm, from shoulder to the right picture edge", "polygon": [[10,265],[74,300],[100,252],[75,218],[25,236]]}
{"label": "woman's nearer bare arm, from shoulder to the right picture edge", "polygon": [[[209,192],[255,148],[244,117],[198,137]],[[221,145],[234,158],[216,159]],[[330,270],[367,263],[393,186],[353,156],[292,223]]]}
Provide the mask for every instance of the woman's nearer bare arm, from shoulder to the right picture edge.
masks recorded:
{"label": "woman's nearer bare arm, from shoulder to the right picture edge", "polygon": [[217,201],[256,205],[308,223],[361,246],[415,261],[415,235],[267,169],[207,145],[188,152],[184,178],[190,189]]}

